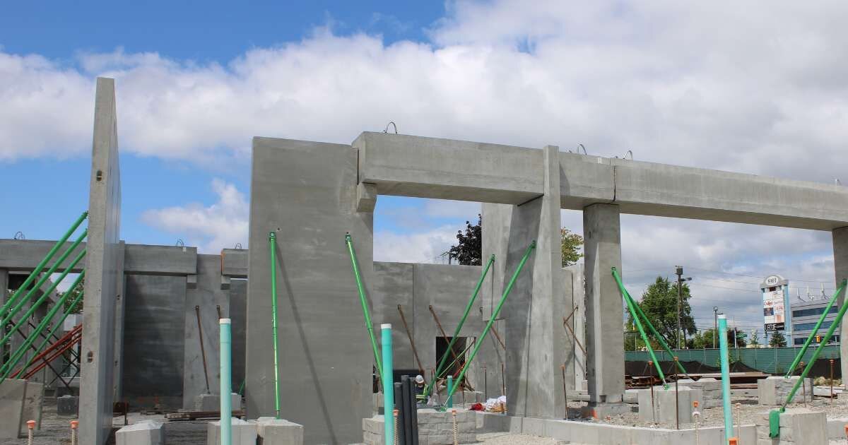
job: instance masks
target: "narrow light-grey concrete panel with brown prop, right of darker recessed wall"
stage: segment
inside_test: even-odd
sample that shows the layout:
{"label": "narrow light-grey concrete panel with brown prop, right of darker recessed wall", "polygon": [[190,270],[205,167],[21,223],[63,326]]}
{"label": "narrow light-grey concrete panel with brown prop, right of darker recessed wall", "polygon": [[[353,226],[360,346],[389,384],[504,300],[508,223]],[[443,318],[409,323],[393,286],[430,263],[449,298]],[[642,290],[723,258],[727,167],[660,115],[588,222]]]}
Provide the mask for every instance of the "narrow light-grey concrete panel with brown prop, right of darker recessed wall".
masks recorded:
{"label": "narrow light-grey concrete panel with brown prop, right of darker recessed wall", "polygon": [[[186,292],[185,342],[182,378],[182,408],[192,408],[194,399],[205,393],[220,393],[220,334],[218,309],[229,318],[229,292],[220,288],[220,256],[198,255],[197,286]],[[198,311],[203,327],[204,354],[198,335]],[[204,375],[205,374],[205,375]],[[206,378],[209,377],[209,387]],[[238,391],[238,388],[236,388]]]}

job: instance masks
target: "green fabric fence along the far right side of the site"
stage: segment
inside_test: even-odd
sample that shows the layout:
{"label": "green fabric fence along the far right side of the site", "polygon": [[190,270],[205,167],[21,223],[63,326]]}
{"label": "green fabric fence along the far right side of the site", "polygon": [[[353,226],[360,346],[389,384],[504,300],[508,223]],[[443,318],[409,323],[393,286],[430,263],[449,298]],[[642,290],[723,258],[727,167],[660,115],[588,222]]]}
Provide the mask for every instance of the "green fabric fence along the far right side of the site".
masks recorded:
{"label": "green fabric fence along the far right side of the site", "polygon": [[[784,374],[800,351],[799,346],[798,348],[730,348],[729,353],[731,364],[741,362],[749,368],[767,374]],[[801,361],[809,363],[814,352],[814,348],[808,349]],[[672,355],[665,351],[655,351],[655,353],[656,359],[661,362],[672,361]],[[674,353],[683,362],[700,362],[714,368],[718,367],[718,349],[681,349],[675,350]],[[824,347],[819,361],[839,358],[839,345],[828,345]],[[647,362],[650,360],[650,355],[647,351],[625,351],[624,359],[628,362]],[[800,372],[800,369],[796,370],[795,374]]]}

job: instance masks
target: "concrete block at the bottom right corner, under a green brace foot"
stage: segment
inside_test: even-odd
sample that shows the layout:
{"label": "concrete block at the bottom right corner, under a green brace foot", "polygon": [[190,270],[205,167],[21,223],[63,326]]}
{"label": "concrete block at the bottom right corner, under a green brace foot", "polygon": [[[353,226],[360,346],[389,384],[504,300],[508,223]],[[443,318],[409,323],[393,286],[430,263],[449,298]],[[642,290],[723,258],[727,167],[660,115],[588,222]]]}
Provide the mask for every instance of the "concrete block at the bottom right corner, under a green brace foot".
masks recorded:
{"label": "concrete block at the bottom right corner, under a green brace foot", "polygon": [[762,445],[827,445],[828,419],[824,412],[806,408],[780,414],[780,437],[768,437],[769,411],[756,415],[756,440]]}

